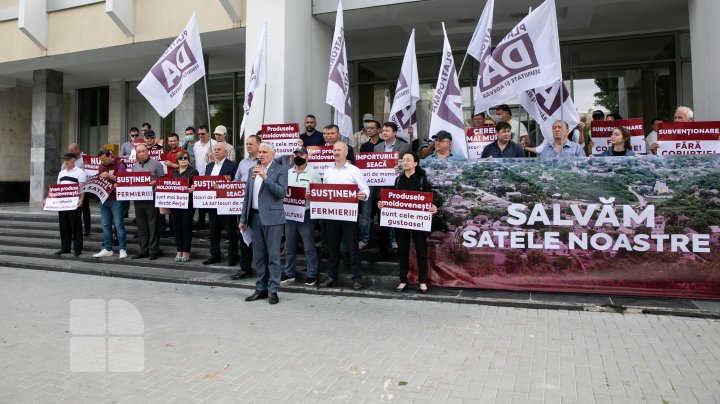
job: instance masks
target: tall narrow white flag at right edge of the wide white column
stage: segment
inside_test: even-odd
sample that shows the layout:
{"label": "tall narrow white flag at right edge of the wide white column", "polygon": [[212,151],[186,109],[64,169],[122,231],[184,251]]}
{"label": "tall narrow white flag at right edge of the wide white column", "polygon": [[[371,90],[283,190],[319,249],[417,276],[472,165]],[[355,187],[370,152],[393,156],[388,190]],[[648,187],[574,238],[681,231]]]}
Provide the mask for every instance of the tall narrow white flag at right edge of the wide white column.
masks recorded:
{"label": "tall narrow white flag at right edge of the wide white column", "polygon": [[352,109],[350,108],[350,76],[347,70],[345,51],[345,28],[343,26],[342,1],[338,3],[335,15],[335,33],[330,46],[330,72],[325,103],[335,108],[335,124],[340,135],[352,139]]}

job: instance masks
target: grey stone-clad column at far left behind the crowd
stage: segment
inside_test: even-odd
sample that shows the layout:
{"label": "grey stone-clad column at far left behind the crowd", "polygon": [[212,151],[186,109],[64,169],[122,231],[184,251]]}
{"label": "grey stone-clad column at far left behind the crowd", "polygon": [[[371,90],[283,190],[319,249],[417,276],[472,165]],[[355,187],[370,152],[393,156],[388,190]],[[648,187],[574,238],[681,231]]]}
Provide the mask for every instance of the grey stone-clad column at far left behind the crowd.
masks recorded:
{"label": "grey stone-clad column at far left behind the crowd", "polygon": [[45,197],[60,171],[62,148],[63,74],[33,71],[32,147],[30,150],[30,202]]}

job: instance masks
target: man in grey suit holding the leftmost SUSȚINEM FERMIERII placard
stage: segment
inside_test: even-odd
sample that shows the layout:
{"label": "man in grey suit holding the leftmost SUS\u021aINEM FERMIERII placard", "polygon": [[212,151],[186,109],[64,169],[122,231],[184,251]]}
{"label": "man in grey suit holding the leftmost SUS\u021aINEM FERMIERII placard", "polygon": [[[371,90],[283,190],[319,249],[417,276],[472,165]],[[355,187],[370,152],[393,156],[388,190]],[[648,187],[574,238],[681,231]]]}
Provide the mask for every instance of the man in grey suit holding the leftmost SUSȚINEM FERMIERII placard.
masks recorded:
{"label": "man in grey suit holding the leftmost SUS\u021aINEM FERMIERII placard", "polygon": [[[155,185],[156,179],[165,176],[162,163],[150,158],[146,145],[139,144],[135,146],[135,155],[137,156],[137,161],[133,165],[133,172],[150,173],[152,185]],[[155,201],[133,202],[135,204],[135,220],[138,226],[140,248],[138,253],[132,256],[132,259],[147,257],[150,260],[156,260],[160,256],[160,234],[158,232],[159,214],[155,207]]]}

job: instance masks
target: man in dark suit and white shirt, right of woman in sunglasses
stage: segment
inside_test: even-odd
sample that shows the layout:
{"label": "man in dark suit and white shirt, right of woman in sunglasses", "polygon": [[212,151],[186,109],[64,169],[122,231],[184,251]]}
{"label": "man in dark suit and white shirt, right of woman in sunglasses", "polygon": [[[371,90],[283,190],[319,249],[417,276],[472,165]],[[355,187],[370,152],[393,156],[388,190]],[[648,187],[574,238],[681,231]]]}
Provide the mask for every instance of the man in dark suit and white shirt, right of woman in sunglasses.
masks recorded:
{"label": "man in dark suit and white shirt, right of woman in sunglasses", "polygon": [[[213,145],[212,163],[205,168],[205,175],[224,175],[232,179],[237,171],[237,163],[227,158],[227,148],[222,143]],[[228,239],[228,265],[235,266],[237,255],[237,216],[218,215],[216,209],[208,209],[210,213],[210,258],[203,261],[204,265],[220,262],[220,233],[224,228]]]}

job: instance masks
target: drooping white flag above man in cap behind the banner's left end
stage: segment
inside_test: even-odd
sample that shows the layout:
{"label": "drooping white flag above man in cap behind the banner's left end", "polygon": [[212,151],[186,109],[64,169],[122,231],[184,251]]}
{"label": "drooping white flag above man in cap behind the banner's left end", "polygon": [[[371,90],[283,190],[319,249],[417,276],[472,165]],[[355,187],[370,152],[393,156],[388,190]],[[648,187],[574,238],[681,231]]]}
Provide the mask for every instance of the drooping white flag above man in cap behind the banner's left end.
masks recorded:
{"label": "drooping white flag above man in cap behind the banner's left end", "polygon": [[443,44],[440,73],[435,85],[435,96],[433,97],[430,136],[441,130],[450,132],[452,135],[452,149],[450,151],[455,158],[467,159],[467,137],[465,136],[465,123],[463,122],[462,95],[460,94],[460,85],[455,71],[455,59],[452,56],[452,49],[450,49],[450,41],[447,39],[444,23],[443,35],[445,42]]}

